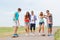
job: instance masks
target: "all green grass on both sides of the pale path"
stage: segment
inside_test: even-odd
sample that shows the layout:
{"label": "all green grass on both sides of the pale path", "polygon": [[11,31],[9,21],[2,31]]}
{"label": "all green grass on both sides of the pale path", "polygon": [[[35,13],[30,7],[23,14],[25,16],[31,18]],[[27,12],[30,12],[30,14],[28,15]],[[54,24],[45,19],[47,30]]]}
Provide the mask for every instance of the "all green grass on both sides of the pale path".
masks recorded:
{"label": "all green grass on both sides of the pale path", "polygon": [[[46,29],[47,28],[45,28],[45,30]],[[23,33],[25,33],[24,27],[19,27],[18,34],[23,34]],[[13,34],[13,27],[0,27],[0,38],[12,36],[12,34]],[[55,40],[60,40],[60,29],[58,29],[55,32],[54,38],[55,38]]]}

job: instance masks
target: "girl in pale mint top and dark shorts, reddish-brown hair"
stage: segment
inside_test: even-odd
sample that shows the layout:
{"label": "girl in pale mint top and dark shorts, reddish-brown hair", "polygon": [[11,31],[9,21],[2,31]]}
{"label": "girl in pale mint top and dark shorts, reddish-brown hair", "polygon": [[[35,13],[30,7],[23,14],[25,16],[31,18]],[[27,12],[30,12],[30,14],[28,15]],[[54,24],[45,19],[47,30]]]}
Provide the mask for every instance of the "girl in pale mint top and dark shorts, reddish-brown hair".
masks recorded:
{"label": "girl in pale mint top and dark shorts, reddish-brown hair", "polygon": [[44,34],[44,15],[43,12],[40,12],[39,15],[39,35],[40,35],[40,31],[42,30],[42,36],[45,36]]}

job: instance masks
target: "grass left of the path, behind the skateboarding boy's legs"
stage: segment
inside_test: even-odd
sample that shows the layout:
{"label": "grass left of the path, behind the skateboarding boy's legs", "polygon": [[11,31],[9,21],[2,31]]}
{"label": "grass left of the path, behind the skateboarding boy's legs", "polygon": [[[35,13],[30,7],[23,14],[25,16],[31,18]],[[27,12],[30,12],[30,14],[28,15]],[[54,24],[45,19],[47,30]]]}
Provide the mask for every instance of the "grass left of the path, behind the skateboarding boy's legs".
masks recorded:
{"label": "grass left of the path, behind the skateboarding boy's legs", "polygon": [[[18,29],[18,34],[23,33],[24,28],[19,27]],[[1,37],[6,37],[6,36],[11,36],[13,34],[13,28],[12,27],[0,27],[0,38]]]}

